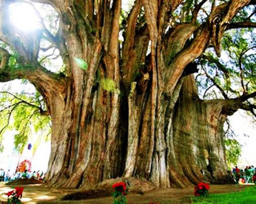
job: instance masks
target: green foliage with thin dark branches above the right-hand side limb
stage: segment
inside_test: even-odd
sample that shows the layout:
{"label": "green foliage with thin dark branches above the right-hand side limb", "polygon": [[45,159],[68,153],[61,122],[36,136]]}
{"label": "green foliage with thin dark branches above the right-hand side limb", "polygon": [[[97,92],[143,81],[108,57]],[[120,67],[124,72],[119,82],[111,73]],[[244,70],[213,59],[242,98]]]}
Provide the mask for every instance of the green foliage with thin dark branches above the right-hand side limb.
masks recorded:
{"label": "green foliage with thin dark branches above the right-hand side limb", "polygon": [[[250,29],[230,30],[222,39],[221,58],[212,48],[207,49],[199,59],[201,69],[197,84],[201,96],[220,98],[222,90],[229,98],[236,98],[256,90],[255,40]],[[255,99],[250,99],[250,103],[255,103]]]}

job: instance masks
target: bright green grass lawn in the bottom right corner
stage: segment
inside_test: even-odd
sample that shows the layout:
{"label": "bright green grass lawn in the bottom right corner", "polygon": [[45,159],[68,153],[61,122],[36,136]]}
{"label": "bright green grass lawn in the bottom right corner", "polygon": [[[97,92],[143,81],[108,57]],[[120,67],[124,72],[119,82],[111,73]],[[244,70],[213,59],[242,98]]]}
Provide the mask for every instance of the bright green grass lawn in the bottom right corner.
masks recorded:
{"label": "bright green grass lawn in the bottom right corner", "polygon": [[[208,198],[193,197],[193,204],[256,204],[256,185],[239,186],[235,193],[210,194]],[[210,190],[209,190],[210,193]]]}

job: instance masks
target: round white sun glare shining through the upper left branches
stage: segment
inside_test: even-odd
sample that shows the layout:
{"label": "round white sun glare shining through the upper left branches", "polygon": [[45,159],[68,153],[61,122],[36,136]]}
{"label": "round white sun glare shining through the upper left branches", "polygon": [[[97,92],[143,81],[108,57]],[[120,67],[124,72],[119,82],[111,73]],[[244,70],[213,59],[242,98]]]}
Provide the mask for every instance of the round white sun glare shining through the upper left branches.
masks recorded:
{"label": "round white sun glare shining through the upper left branches", "polygon": [[40,28],[37,14],[28,3],[15,3],[9,8],[12,24],[21,31],[33,31]]}

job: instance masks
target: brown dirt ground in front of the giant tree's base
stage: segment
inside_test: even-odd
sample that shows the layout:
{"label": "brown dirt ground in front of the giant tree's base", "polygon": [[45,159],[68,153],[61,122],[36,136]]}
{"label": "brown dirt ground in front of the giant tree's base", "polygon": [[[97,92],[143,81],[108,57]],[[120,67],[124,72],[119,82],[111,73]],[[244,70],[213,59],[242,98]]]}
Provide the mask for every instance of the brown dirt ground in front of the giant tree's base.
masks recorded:
{"label": "brown dirt ground in front of the giant tree's base", "polygon": [[[17,185],[15,187],[20,187]],[[24,192],[21,199],[23,204],[111,204],[112,198],[97,198],[89,200],[79,201],[61,201],[60,198],[69,193],[77,192],[79,190],[67,190],[67,189],[55,189],[45,187],[42,184],[29,184],[23,185]],[[4,183],[0,183],[0,203],[6,201],[7,196],[3,193],[7,193],[12,190],[14,186],[9,186]],[[242,190],[244,186],[235,184],[227,185],[211,185],[209,193],[229,193]],[[160,204],[185,204],[189,203],[189,197],[193,196],[193,187],[186,189],[156,189],[144,195],[129,194],[127,195],[128,204],[148,204],[150,201],[160,202]]]}

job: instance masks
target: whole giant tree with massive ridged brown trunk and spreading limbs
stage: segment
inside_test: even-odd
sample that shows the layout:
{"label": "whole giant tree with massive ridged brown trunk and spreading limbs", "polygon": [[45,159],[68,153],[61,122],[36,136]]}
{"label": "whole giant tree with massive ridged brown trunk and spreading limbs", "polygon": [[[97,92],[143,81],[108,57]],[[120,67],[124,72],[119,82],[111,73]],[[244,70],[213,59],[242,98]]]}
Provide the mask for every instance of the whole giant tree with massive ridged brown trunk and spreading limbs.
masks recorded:
{"label": "whole giant tree with massive ridged brown trunk and spreading limbs", "polygon": [[[213,182],[227,181],[223,124],[238,108],[253,112],[248,99],[256,93],[243,84],[236,98],[222,90],[224,99],[203,101],[192,73],[202,62],[204,76],[222,89],[207,71],[218,60],[205,51],[219,57],[225,31],[256,26],[255,0],[136,0],[127,14],[121,0],[33,2],[55,9],[57,29],[36,11],[41,28],[18,30],[9,15],[15,0],[0,0],[7,46],[0,48],[0,82],[27,79],[44,98],[52,119],[49,185],[137,176],[184,187],[204,171]],[[61,72],[39,57],[51,48],[64,62]]]}

